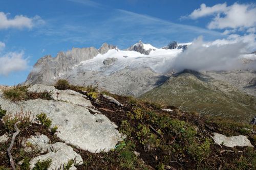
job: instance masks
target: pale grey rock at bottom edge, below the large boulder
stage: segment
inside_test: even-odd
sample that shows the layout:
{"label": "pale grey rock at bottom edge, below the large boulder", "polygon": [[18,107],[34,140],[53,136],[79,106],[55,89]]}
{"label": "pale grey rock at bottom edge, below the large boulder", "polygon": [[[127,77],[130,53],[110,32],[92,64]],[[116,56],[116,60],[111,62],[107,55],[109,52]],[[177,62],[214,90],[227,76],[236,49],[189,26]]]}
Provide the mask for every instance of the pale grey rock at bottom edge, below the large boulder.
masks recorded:
{"label": "pale grey rock at bottom edge, below the large boulder", "polygon": [[[51,145],[52,151],[33,158],[30,161],[30,168],[32,169],[35,166],[35,163],[40,160],[51,159],[51,166],[48,169],[58,169],[63,164],[67,164],[69,160],[75,159],[75,164],[82,164],[82,158],[76,152],[73,151],[66,143],[56,142]],[[60,169],[63,169],[62,167]],[[76,167],[74,164],[70,170],[74,170]]]}

